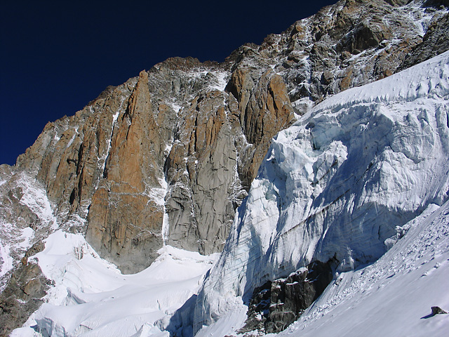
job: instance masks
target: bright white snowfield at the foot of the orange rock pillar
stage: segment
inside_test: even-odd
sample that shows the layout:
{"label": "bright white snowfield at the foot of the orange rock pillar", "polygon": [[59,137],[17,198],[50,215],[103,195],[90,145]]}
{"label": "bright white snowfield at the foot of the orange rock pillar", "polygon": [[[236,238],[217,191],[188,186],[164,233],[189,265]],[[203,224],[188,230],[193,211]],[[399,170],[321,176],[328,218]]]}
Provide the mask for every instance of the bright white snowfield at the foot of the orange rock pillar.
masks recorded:
{"label": "bright white snowfield at the foot of the orange rock pillar", "polygon": [[34,256],[55,285],[11,336],[170,336],[161,330],[178,323],[171,317],[199,289],[215,256],[170,246],[159,253],[146,270],[122,275],[81,235],[58,230]]}

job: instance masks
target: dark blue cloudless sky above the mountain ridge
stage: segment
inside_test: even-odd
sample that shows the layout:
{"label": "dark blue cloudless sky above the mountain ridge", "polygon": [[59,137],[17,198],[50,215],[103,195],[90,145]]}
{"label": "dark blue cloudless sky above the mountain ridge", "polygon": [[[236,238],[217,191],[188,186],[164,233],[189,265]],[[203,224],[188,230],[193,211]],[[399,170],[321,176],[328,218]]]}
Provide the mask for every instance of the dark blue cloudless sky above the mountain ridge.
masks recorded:
{"label": "dark blue cloudless sky above the mountain ridge", "polygon": [[220,62],[335,2],[3,1],[0,164],[140,70],[173,56]]}

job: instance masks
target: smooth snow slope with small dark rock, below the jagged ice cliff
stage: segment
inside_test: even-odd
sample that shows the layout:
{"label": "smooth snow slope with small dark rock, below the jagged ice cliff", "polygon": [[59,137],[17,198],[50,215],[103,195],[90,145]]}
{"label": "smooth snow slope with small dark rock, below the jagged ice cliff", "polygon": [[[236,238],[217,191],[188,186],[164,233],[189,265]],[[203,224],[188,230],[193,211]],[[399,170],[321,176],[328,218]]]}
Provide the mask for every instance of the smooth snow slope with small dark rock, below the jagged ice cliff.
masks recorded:
{"label": "smooth snow slope with small dark rock, below the jagged ice cliff", "polygon": [[408,225],[382,258],[339,275],[279,336],[447,336],[449,315],[429,314],[449,309],[449,202]]}

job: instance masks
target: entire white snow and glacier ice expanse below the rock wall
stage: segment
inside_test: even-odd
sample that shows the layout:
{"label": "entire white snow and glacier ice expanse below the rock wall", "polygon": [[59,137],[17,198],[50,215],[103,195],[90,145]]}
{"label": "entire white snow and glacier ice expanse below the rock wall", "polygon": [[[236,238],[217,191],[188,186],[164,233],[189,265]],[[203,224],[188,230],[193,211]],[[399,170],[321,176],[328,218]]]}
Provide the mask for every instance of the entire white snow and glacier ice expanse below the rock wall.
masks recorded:
{"label": "entire white snow and glacier ice expanse below the rock wall", "polygon": [[[424,84],[428,84],[425,92],[422,90]],[[332,254],[338,260],[333,281],[298,322],[279,333],[280,336],[321,336],[335,331],[347,336],[378,336],[379,333],[395,336],[404,331],[410,331],[413,336],[428,336],[429,333],[443,336],[449,316],[430,317],[429,313],[431,306],[449,306],[445,282],[449,272],[448,98],[449,52],[388,79],[335,95],[279,133],[262,163],[248,200],[239,209],[225,251],[206,274],[198,298],[194,294],[202,283],[202,275],[217,256],[201,256],[165,246],[159,251],[159,258],[146,270],[135,275],[122,275],[114,265],[102,260],[80,234],[62,231],[51,234],[46,239],[45,249],[30,261],[39,263],[46,277],[53,281],[53,286],[48,291],[46,303],[12,336],[41,336],[36,330],[43,336],[104,336],[105,331],[111,330],[115,336],[168,336],[169,333],[192,336],[192,329],[198,329],[199,314],[209,314],[217,322],[210,321],[212,324],[201,329],[196,336],[237,335],[236,331],[246,319],[244,291],[250,293],[264,282],[265,278],[259,275],[268,275],[266,277],[272,279],[287,276],[298,265],[307,263],[299,258],[324,256],[326,260]],[[316,129],[319,125],[316,121],[323,123],[326,118],[327,126],[339,123],[340,132],[335,131],[336,127],[326,128],[324,133]],[[310,127],[311,123],[315,123],[314,128]],[[367,127],[361,128],[361,125]],[[394,130],[391,130],[392,126]],[[351,132],[346,132],[345,127]],[[370,128],[373,129],[370,131]],[[332,130],[334,132],[329,132]],[[367,147],[370,143],[379,143],[382,139],[380,131],[391,135],[391,142],[382,148]],[[368,137],[370,132],[377,137]],[[403,132],[412,143],[405,143],[401,137]],[[424,137],[426,134],[432,137]],[[324,136],[329,135],[326,140]],[[406,152],[408,156],[419,155],[420,160],[405,159],[405,154],[394,145],[398,140],[403,145],[401,151],[410,150]],[[320,148],[313,149],[312,141],[320,141]],[[347,152],[332,145],[335,142],[344,145],[344,141],[349,142],[346,143]],[[305,146],[307,142],[309,145]],[[410,144],[420,146],[410,147]],[[279,150],[281,145],[282,151]],[[344,161],[354,154],[351,151],[360,149],[377,152],[373,159],[377,162],[370,166],[371,172],[362,170],[362,183],[347,183],[348,179],[344,177],[353,176],[359,168],[351,165],[351,169],[345,169]],[[382,180],[382,175],[373,173],[393,166],[389,160],[396,158],[391,153],[394,149],[394,153],[401,155],[401,162],[395,164],[399,173],[389,171],[389,176],[383,178],[386,180]],[[335,155],[344,159],[335,161]],[[356,157],[360,160],[369,156]],[[327,160],[321,161],[321,158]],[[319,166],[313,166],[315,163]],[[312,169],[304,171],[307,164]],[[380,168],[376,169],[377,166]],[[304,172],[307,173],[305,177]],[[286,174],[290,183],[283,178]],[[302,190],[295,188],[291,192],[281,192],[282,183],[284,188],[288,184],[294,185],[295,181],[304,185],[313,183],[313,176],[321,176],[314,187],[326,195],[326,188],[336,186],[329,182],[339,175],[343,176],[341,180],[349,188],[349,197],[338,200],[365,201],[353,207],[355,214],[358,209],[363,210],[364,221],[352,220],[348,224],[355,226],[353,232],[361,230],[361,234],[351,236],[350,241],[344,235],[333,237],[329,243],[322,239],[328,235],[326,233],[338,230],[342,225],[338,214],[344,213],[346,208],[341,206],[337,209],[324,206],[326,210],[322,211],[323,204],[314,207],[312,202],[306,209],[309,214],[302,215],[303,218],[314,219],[315,223],[309,226],[302,225],[304,222],[300,222],[297,213],[277,215],[304,211],[291,206],[304,202],[303,195],[297,194]],[[385,181],[389,183],[384,185]],[[404,181],[411,183],[407,185]],[[363,188],[360,190],[358,186]],[[401,191],[396,189],[398,186],[401,186]],[[260,193],[262,188],[268,192]],[[357,194],[363,197],[357,197]],[[319,199],[319,195],[315,198]],[[339,205],[332,201],[330,204]],[[388,208],[389,212],[382,213],[382,207]],[[401,222],[397,213],[412,213],[410,209],[415,209],[415,213],[408,216],[411,220]],[[275,213],[270,214],[269,211]],[[330,212],[334,215],[330,216]],[[316,213],[325,213],[325,216],[309,216]],[[272,221],[257,222],[262,216]],[[276,217],[277,222],[274,221]],[[246,222],[242,223],[241,219],[245,218]],[[290,219],[295,219],[295,222],[292,224]],[[320,225],[317,219],[324,222]],[[321,244],[314,244],[320,239],[313,236],[304,236],[302,241],[297,239],[297,231],[307,230],[311,225],[316,226],[314,234],[321,236]],[[384,229],[387,234],[383,238],[379,237],[377,229],[381,226],[387,226]],[[328,230],[320,232],[323,227]],[[246,238],[245,232],[249,232],[250,237]],[[267,239],[269,235],[273,237]],[[238,243],[234,241],[236,237]],[[282,246],[279,239],[283,240]],[[252,242],[256,240],[258,243],[254,246]],[[269,244],[276,249],[270,249]],[[255,255],[246,253],[254,254],[255,249],[266,249],[265,256],[257,259]],[[335,251],[329,253],[332,249]],[[389,251],[375,263],[361,264],[377,258],[377,254],[381,255],[387,249]],[[245,254],[249,258],[245,258]],[[352,265],[345,263],[345,259]],[[270,262],[264,263],[264,260]],[[276,263],[284,265],[279,267]],[[288,265],[292,266],[290,270]],[[196,315],[193,317],[195,303]],[[222,308],[225,310],[220,312]],[[398,322],[406,322],[406,325]]]}

